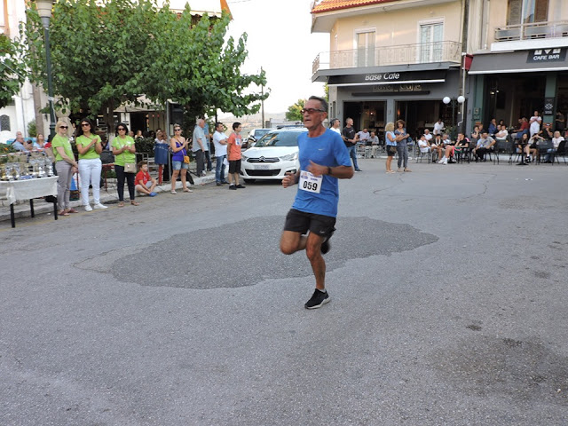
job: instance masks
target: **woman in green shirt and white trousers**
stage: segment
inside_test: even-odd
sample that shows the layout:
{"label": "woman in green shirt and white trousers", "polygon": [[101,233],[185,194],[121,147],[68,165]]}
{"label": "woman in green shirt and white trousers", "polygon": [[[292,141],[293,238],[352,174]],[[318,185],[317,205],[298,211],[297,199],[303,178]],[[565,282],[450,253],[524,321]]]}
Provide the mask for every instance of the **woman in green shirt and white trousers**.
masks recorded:
{"label": "woman in green shirt and white trousers", "polygon": [[[95,130],[93,123],[88,118],[81,120],[81,126],[77,130],[77,151],[79,152],[79,177],[81,177],[81,201],[86,211],[92,209],[106,209],[100,203],[100,172],[103,169],[100,162],[100,153],[103,146],[99,135],[92,132]],[[89,184],[92,185],[92,198],[94,205],[89,203]]]}

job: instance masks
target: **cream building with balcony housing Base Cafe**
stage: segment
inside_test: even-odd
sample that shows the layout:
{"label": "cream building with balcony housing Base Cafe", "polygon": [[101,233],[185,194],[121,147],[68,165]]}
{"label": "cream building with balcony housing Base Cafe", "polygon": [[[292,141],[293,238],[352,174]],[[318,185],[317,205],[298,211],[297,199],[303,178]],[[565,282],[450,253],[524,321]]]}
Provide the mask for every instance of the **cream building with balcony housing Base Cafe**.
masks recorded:
{"label": "cream building with balcony housing Base Cafe", "polygon": [[[419,135],[438,118],[461,122],[468,98],[461,71],[461,1],[323,0],[312,8],[312,32],[329,33],[329,51],[313,63],[312,81],[327,82],[330,116],[356,129],[406,121]],[[451,99],[445,104],[442,99]]]}

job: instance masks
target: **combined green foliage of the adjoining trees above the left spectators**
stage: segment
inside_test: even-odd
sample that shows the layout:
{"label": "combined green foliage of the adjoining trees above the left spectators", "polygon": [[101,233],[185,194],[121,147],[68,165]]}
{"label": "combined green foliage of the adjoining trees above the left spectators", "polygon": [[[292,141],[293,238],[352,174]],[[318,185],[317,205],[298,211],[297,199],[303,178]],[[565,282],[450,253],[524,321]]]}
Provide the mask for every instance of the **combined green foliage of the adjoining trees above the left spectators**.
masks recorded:
{"label": "combined green foliage of the adjoining trees above the left spectators", "polygon": [[[184,106],[194,119],[217,108],[253,114],[265,99],[245,93],[262,75],[241,75],[246,35],[224,41],[230,18],[192,22],[189,6],[178,15],[155,0],[58,0],[51,19],[53,91],[59,107],[106,115],[140,94],[165,105]],[[43,37],[37,13],[28,13],[28,64],[46,87]],[[40,36],[38,36],[38,34]],[[112,130],[112,129],[111,129]]]}

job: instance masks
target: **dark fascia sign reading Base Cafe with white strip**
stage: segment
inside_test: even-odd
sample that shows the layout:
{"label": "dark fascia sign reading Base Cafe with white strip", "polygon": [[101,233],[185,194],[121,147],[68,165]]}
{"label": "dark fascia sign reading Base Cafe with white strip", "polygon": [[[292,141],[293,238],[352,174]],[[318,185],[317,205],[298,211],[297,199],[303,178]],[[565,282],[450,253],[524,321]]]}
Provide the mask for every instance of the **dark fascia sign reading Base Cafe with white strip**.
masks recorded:
{"label": "dark fascia sign reading Base Cafe with white strip", "polygon": [[368,73],[357,75],[330,75],[328,84],[336,86],[355,86],[367,84],[405,84],[405,83],[443,83],[446,71],[406,71],[387,73]]}

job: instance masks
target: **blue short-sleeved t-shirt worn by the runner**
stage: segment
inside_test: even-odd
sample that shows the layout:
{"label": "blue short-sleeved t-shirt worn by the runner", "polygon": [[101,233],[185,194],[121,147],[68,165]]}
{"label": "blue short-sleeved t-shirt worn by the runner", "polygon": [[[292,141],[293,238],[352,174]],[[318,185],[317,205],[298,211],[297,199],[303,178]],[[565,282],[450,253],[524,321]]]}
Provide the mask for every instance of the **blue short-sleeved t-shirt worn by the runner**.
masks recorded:
{"label": "blue short-sleeved t-shirt worn by the runner", "polygon": [[[298,147],[300,148],[300,170],[308,170],[310,161],[328,167],[351,167],[349,151],[341,136],[335,131],[327,129],[323,135],[317,138],[308,138],[307,133],[302,133],[298,137]],[[336,217],[338,201],[339,182],[337,177],[323,175],[319,193],[311,193],[298,187],[292,209]]]}

